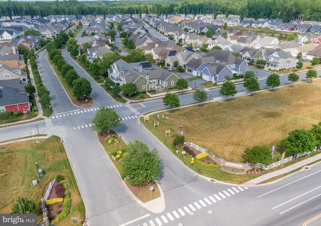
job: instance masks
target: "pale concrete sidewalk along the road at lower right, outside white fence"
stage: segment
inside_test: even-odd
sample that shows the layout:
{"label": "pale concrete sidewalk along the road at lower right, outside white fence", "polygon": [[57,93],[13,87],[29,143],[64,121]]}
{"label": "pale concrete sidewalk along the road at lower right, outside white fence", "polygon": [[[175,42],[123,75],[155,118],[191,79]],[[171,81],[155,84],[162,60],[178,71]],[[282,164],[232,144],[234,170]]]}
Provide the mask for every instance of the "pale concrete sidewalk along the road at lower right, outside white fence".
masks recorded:
{"label": "pale concrete sidewalk along the road at lower right, outside white fence", "polygon": [[[262,176],[258,176],[256,178],[250,180],[250,181],[247,181],[247,182],[243,183],[242,185],[246,185],[246,186],[255,185],[255,184],[263,182],[263,181],[265,181],[267,179],[270,179],[270,178],[273,178],[275,176],[279,176],[279,175],[282,175],[282,174],[285,174],[285,173],[289,173],[289,172],[291,172],[291,171],[293,171],[295,169],[301,168],[301,167],[302,167],[301,170],[307,170],[311,166],[306,166],[306,165],[308,165],[308,164],[310,164],[310,163],[312,163],[314,161],[317,161],[317,160],[321,160],[321,153],[317,154],[317,155],[314,155],[312,157],[309,157],[307,159],[304,159],[302,161],[296,162],[296,163],[294,163],[292,165],[286,166],[283,169],[279,169],[279,170],[276,170],[276,171],[270,172],[270,173],[265,173]],[[283,179],[283,178],[284,177],[282,177],[281,179]],[[276,182],[276,181],[273,181],[273,182]]]}

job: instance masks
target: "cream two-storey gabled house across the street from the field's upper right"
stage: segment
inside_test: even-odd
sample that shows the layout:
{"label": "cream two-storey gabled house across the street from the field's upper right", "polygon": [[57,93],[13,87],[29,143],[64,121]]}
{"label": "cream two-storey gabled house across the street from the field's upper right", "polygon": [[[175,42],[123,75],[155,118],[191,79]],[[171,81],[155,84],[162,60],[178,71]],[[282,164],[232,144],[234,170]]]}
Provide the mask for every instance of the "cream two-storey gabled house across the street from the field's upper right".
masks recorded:
{"label": "cream two-storey gabled house across the street from the field's upper right", "polygon": [[290,52],[284,52],[281,49],[274,49],[264,53],[266,60],[265,69],[281,70],[296,66],[296,58]]}

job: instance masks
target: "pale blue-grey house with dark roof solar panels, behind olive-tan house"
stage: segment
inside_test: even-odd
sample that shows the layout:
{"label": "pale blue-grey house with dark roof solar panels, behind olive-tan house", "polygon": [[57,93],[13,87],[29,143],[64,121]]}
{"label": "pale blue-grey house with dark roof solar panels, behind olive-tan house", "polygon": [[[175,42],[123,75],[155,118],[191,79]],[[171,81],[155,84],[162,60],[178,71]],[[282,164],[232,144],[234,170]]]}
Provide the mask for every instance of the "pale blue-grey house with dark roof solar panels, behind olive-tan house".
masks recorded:
{"label": "pale blue-grey house with dark roof solar panels, behind olive-tan house", "polygon": [[119,59],[112,65],[107,71],[108,77],[115,83],[120,83],[119,78],[122,74],[125,74],[128,70],[136,72],[148,72],[151,71],[151,65],[148,61],[127,63],[126,61]]}

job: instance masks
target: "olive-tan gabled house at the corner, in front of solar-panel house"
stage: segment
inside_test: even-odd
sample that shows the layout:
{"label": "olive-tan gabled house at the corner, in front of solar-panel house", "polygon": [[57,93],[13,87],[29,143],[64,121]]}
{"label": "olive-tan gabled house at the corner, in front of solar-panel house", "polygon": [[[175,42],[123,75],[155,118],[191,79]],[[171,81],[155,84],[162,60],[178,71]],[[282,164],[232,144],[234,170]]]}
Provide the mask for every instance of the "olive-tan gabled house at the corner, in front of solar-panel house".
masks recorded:
{"label": "olive-tan gabled house at the corner, in front of solar-panel house", "polygon": [[137,86],[137,92],[155,90],[162,92],[176,86],[181,77],[164,69],[156,69],[148,72],[137,72],[129,69],[120,76],[119,85],[133,83]]}

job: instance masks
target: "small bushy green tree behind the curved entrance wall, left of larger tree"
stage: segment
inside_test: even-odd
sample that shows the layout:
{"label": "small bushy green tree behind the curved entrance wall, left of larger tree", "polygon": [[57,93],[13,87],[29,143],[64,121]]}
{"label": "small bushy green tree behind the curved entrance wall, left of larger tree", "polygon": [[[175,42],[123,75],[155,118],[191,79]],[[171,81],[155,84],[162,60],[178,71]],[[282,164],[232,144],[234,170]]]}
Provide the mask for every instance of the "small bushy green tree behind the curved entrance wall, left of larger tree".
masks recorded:
{"label": "small bushy green tree behind the curved entrance wall, left of larger tree", "polygon": [[271,150],[267,146],[253,146],[245,148],[245,158],[247,161],[254,163],[254,170],[258,168],[257,163],[268,164],[272,160]]}

